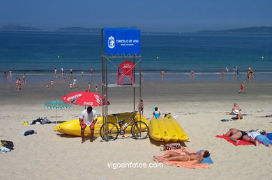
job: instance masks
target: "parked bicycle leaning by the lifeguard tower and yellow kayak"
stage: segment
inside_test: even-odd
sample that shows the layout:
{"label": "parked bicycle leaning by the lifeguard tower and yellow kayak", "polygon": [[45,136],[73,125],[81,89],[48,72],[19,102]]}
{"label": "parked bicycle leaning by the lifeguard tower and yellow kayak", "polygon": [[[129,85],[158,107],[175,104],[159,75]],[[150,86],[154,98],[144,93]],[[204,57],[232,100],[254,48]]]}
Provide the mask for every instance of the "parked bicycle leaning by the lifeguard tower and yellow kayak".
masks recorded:
{"label": "parked bicycle leaning by the lifeguard tower and yellow kayak", "polygon": [[126,129],[128,126],[133,122],[133,125],[131,126],[130,133],[133,136],[133,138],[139,140],[139,139],[145,139],[149,135],[149,127],[146,125],[145,122],[142,121],[136,121],[135,120],[135,113],[131,117],[128,117],[126,120],[130,120],[130,122],[124,124],[126,120],[119,120],[118,115],[114,115],[116,117],[117,123],[119,124],[119,128],[116,124],[112,122],[106,122],[100,127],[100,136],[105,141],[112,141],[116,140],[116,138],[119,136],[119,134],[124,137],[126,133]]}

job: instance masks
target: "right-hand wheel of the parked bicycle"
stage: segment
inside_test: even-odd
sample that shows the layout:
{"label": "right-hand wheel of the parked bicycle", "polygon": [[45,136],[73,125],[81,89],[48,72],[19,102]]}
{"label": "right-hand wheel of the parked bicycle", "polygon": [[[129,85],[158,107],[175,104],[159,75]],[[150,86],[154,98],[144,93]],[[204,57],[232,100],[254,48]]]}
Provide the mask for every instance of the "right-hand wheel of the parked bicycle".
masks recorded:
{"label": "right-hand wheel of the parked bicycle", "polygon": [[149,127],[145,122],[138,121],[131,126],[131,134],[137,140],[145,139],[149,135]]}

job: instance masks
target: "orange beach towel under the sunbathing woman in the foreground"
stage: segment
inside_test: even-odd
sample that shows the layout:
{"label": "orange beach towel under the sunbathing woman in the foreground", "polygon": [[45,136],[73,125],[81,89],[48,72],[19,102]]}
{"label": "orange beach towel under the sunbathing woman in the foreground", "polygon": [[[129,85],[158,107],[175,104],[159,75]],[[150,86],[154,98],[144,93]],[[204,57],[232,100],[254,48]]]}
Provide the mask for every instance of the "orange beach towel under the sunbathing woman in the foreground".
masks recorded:
{"label": "orange beach towel under the sunbathing woman in the foreground", "polygon": [[[186,150],[189,153],[197,153],[196,151],[189,151]],[[175,149],[175,150],[169,150],[169,151],[165,151],[165,154],[167,154],[167,152],[177,152],[177,153],[182,153],[182,149]],[[175,165],[177,167],[184,167],[184,168],[189,168],[189,169],[201,169],[201,168],[209,168],[209,163],[196,163],[197,160],[195,161],[165,161],[163,163],[165,163],[165,165]]]}

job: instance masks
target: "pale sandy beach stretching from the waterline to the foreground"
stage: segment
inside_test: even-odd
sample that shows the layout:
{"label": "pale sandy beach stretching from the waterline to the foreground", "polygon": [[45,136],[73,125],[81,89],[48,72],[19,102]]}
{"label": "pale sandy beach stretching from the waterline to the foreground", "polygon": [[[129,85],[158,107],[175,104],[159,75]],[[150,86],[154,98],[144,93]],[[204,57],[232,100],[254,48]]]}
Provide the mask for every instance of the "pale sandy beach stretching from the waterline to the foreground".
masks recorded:
{"label": "pale sandy beach stretching from the waterline to the foreground", "polygon": [[[23,125],[22,122],[47,117],[56,120],[56,111],[43,108],[46,101],[61,100],[73,91],[86,90],[79,83],[70,90],[68,83],[29,83],[21,92],[14,84],[0,85],[0,139],[11,140],[15,149],[0,154],[1,179],[271,179],[272,150],[264,145],[234,146],[216,135],[230,128],[241,130],[264,129],[272,133],[272,83],[249,82],[245,94],[237,93],[241,82],[143,82],[144,117],[150,118],[152,107],[161,113],[178,115],[177,121],[189,136],[185,142],[190,150],[208,149],[213,164],[209,169],[185,169],[163,165],[161,168],[109,168],[110,163],[156,163],[153,155],[163,155],[160,143],[133,138],[119,138],[113,142],[94,142],[88,138],[81,144],[80,137],[66,136],[54,131],[55,124]],[[94,84],[93,84],[94,85]],[[100,90],[100,85],[98,86]],[[133,110],[132,89],[109,90],[109,113]],[[100,91],[98,92],[100,93]],[[100,93],[101,94],[101,93]],[[237,103],[244,116],[243,122],[221,122]],[[137,106],[137,104],[135,105]],[[75,120],[84,106],[73,105],[58,111],[59,120]],[[94,107],[102,114],[101,107]],[[35,129],[38,133],[23,136],[22,131]]]}

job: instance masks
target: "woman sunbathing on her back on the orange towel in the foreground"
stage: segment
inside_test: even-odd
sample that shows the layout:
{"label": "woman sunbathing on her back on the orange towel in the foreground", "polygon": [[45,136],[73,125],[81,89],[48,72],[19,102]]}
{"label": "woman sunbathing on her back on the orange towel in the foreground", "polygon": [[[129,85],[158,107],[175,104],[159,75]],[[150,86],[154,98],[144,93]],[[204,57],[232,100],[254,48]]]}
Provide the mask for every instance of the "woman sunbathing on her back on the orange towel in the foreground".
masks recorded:
{"label": "woman sunbathing on her back on the orange towel in the foreground", "polygon": [[196,163],[201,163],[203,158],[209,157],[210,153],[206,151],[202,151],[199,154],[189,153],[185,149],[183,149],[182,153],[178,152],[168,152],[163,156],[153,156],[153,160],[157,163],[161,163],[164,161],[194,161],[197,160]]}

